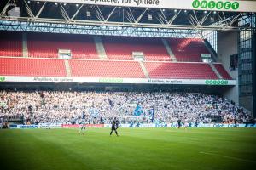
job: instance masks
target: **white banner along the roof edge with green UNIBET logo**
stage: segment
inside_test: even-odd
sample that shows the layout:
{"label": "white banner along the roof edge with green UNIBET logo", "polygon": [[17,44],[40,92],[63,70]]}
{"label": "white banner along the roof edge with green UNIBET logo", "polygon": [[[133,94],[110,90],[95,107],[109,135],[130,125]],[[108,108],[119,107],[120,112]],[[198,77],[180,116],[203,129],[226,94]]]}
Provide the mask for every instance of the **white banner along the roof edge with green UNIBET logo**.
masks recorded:
{"label": "white banner along the roof edge with green UNIBET logo", "polygon": [[32,0],[55,3],[85,3],[138,8],[175,8],[212,11],[256,12],[255,1],[242,0]]}

